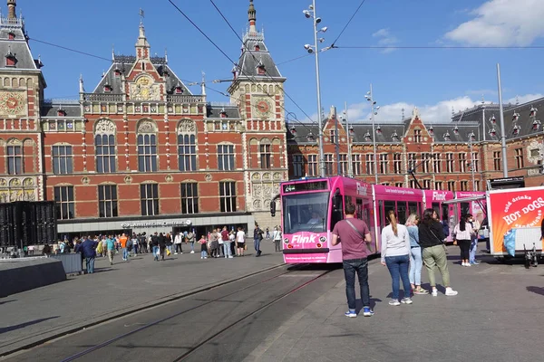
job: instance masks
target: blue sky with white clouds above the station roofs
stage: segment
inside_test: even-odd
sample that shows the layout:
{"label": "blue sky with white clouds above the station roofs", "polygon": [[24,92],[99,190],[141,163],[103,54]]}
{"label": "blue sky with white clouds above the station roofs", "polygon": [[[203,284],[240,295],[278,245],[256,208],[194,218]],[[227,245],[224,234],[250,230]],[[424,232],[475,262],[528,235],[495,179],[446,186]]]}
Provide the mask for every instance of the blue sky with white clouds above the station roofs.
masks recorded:
{"label": "blue sky with white clouds above the station roofs", "polygon": [[[209,0],[174,0],[176,5],[209,35],[233,60],[240,42],[228,29]],[[145,27],[151,51],[168,48],[170,66],[183,80],[199,81],[205,71],[209,81],[228,79],[232,64],[213,47],[168,0],[56,0],[36,5],[18,0],[31,39],[56,43],[110,59],[115,52],[134,54],[139,9],[145,11]],[[242,33],[248,23],[248,0],[215,0],[230,23]],[[410,5],[407,5],[410,3]],[[41,4],[41,3],[38,3]],[[302,11],[309,0],[255,0],[257,28],[265,29],[267,46],[277,63],[304,55],[313,42],[311,21]],[[359,0],[317,0],[317,12],[327,26],[325,43],[335,40]],[[5,5],[3,12],[6,13]],[[367,0],[340,37],[338,46],[359,45],[544,45],[544,2],[541,0]],[[34,57],[41,55],[48,83],[46,98],[76,98],[83,74],[86,90],[100,81],[109,62],[66,52],[31,40]],[[351,119],[367,119],[364,93],[374,84],[374,98],[382,106],[379,122],[401,119],[414,106],[423,120],[448,121],[452,107],[464,110],[481,100],[498,101],[495,64],[500,62],[503,98],[521,101],[544,93],[544,73],[537,67],[544,50],[372,50],[335,49],[321,53],[323,108],[344,108]],[[316,115],[315,63],[311,56],[279,65],[287,77],[287,93],[311,117]],[[210,84],[226,90],[228,83]],[[191,90],[199,92],[199,87]],[[228,99],[211,90],[211,101]],[[287,100],[286,108],[305,116]],[[306,119],[307,120],[307,119]]]}

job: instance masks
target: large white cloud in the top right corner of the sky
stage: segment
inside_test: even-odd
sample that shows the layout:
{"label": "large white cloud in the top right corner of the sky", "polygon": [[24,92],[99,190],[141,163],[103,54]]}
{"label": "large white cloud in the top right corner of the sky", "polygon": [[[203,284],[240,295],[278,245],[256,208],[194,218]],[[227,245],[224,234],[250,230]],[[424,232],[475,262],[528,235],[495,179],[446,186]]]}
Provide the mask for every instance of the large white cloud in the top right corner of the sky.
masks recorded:
{"label": "large white cloud in the top right corner of the sky", "polygon": [[469,14],[474,18],[445,38],[468,45],[526,46],[544,37],[542,0],[489,0]]}

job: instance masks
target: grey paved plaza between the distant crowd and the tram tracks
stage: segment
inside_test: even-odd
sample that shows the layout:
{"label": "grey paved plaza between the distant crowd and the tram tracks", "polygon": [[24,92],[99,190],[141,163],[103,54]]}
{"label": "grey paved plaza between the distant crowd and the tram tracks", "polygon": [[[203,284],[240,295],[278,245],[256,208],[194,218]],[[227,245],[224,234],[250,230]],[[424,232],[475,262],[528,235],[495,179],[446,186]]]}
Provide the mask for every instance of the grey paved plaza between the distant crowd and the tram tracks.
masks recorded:
{"label": "grey paved plaza between the distant crowd and the tram tracks", "polygon": [[17,293],[0,299],[0,355],[96,321],[112,319],[123,312],[170,300],[220,282],[275,267],[283,263],[274,243],[261,243],[255,257],[248,240],[244,257],[201,260],[199,246],[191,254],[172,254],[154,262],[143,253],[123,262],[115,255],[113,266],[97,258],[95,272],[70,276],[67,281]]}

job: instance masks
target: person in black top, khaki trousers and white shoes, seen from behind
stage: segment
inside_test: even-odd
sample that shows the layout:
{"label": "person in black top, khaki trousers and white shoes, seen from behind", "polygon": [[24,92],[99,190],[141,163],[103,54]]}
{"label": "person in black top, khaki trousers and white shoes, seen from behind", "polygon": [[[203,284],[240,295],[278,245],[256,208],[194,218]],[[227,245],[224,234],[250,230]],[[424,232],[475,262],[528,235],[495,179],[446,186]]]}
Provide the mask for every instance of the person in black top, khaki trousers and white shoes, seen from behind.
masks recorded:
{"label": "person in black top, khaki trousers and white shoes, seen from behind", "polygon": [[429,273],[429,282],[432,288],[432,296],[438,296],[434,270],[438,268],[442,274],[442,282],[446,288],[447,296],[457,295],[450,285],[450,271],[448,270],[448,259],[444,246],[446,238],[442,232],[442,224],[436,220],[436,211],[426,209],[423,212],[423,220],[418,226],[420,246],[423,249],[423,264]]}

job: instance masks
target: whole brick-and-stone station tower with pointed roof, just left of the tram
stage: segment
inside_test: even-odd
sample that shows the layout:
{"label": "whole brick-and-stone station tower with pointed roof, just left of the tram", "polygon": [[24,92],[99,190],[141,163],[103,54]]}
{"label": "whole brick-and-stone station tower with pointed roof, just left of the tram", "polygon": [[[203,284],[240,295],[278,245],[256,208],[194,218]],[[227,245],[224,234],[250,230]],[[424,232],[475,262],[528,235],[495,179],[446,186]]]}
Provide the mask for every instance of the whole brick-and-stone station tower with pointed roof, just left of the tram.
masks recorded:
{"label": "whole brick-and-stone station tower with pointed roof, just left of the tram", "polygon": [[244,34],[238,64],[228,88],[237,104],[246,130],[242,135],[246,205],[262,228],[272,228],[279,219],[270,216],[270,201],[287,180],[287,139],[284,78],[257,31],[257,11],[249,1],[249,27]]}

